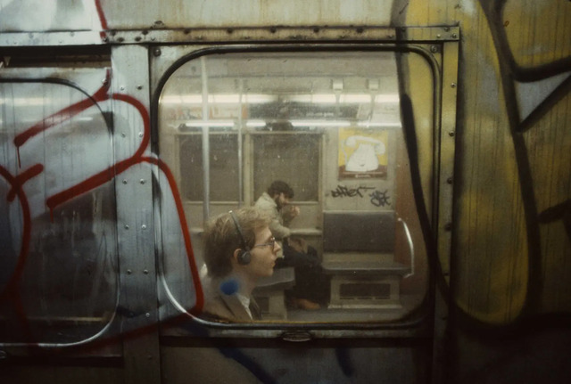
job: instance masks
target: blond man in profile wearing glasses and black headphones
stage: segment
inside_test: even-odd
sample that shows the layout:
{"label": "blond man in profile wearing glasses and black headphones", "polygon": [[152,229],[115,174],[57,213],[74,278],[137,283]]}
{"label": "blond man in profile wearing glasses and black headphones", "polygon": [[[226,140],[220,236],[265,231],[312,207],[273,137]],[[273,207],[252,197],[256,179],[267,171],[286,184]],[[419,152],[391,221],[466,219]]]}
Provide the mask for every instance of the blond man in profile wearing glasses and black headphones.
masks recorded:
{"label": "blond man in profile wearing glasses and black headphones", "polygon": [[280,245],[269,230],[270,218],[256,208],[215,217],[204,229],[204,262],[211,281],[205,287],[203,317],[250,322],[260,320],[252,290],[271,276]]}

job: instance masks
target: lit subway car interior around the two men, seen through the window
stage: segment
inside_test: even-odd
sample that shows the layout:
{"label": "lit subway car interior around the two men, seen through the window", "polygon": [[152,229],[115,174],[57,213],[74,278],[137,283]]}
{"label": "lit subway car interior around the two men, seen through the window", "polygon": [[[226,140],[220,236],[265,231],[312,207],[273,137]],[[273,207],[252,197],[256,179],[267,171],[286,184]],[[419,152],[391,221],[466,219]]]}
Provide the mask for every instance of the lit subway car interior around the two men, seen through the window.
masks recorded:
{"label": "lit subway car interior around the two men, seen through the window", "polygon": [[[180,185],[193,244],[203,217],[253,205],[275,180],[294,190],[301,214],[292,238],[317,250],[327,302],[310,312],[285,306],[294,267],[279,268],[256,289],[264,319],[394,321],[422,304],[426,254],[399,101],[394,52],[216,54],[165,81],[158,148]],[[180,286],[181,251],[164,240],[165,286]]]}

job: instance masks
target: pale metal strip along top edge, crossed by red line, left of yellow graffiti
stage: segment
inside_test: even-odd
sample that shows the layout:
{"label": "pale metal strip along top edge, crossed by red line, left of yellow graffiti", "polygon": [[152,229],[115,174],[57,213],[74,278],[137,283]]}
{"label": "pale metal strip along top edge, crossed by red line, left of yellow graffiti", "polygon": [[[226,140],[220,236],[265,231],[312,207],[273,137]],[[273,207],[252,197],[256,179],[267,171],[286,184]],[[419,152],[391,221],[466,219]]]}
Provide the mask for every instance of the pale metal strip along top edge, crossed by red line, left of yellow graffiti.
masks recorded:
{"label": "pale metal strip along top edge, crossed by red line, left of yellow graffiti", "polygon": [[393,0],[3,0],[0,31],[389,25]]}

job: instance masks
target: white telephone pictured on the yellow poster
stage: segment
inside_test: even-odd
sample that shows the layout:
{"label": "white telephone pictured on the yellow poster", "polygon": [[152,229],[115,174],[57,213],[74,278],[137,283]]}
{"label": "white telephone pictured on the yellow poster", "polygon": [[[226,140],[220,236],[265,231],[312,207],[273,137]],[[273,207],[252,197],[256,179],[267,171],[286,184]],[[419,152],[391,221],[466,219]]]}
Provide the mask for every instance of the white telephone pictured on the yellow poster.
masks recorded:
{"label": "white telephone pictured on the yellow poster", "polygon": [[[357,149],[347,159],[345,147]],[[345,170],[349,172],[369,172],[378,167],[377,155],[385,153],[385,143],[372,137],[354,135],[347,137],[342,145],[345,156]]]}

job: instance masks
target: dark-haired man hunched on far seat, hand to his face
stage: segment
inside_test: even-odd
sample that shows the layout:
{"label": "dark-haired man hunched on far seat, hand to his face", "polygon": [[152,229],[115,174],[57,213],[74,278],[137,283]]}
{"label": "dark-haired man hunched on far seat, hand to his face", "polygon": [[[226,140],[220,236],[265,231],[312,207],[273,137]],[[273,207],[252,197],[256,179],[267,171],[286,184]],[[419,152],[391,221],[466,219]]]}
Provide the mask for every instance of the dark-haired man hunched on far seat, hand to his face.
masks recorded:
{"label": "dark-haired man hunched on far seat, hand to his face", "polygon": [[323,274],[317,250],[301,238],[292,238],[290,222],[300,214],[300,208],[289,205],[294,190],[287,183],[276,180],[256,201],[255,207],[271,218],[269,229],[277,240],[283,241],[283,258],[277,259],[277,268],[293,266],[295,286],[286,291],[288,305],[302,309],[319,309],[328,298],[327,277]]}

